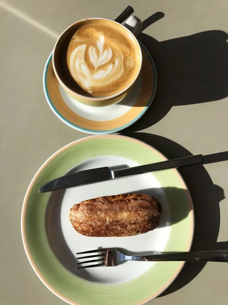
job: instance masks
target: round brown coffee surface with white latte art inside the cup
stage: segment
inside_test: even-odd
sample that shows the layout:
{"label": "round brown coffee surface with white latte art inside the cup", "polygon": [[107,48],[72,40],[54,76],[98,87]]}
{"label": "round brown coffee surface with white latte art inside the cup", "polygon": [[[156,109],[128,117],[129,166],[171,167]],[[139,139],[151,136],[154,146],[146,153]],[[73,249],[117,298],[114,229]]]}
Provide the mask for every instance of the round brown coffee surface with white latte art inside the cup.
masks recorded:
{"label": "round brown coffee surface with white latte art inside the cup", "polygon": [[67,65],[71,76],[95,97],[121,92],[137,74],[138,58],[131,39],[113,28],[110,21],[87,20],[68,46]]}

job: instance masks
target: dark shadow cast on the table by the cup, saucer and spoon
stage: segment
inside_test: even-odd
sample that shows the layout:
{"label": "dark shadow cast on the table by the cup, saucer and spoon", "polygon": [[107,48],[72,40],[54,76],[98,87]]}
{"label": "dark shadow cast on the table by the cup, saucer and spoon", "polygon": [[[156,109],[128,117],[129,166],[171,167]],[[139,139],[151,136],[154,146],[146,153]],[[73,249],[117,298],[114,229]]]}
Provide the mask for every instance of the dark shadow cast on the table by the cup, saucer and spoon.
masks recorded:
{"label": "dark shadow cast on the table by the cup, saucer and spoon", "polygon": [[[150,16],[143,21],[142,30],[164,16],[162,12]],[[158,85],[151,106],[129,130],[140,131],[156,124],[173,106],[227,97],[227,38],[225,32],[214,30],[159,42],[141,33],[138,39],[154,59]]]}

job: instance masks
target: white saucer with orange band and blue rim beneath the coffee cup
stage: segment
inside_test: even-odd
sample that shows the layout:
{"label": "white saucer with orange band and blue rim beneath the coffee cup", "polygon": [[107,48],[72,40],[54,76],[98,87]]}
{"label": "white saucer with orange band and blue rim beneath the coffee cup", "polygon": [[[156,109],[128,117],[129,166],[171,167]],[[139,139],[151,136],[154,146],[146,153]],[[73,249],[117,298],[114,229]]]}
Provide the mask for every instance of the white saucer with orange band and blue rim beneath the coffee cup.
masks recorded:
{"label": "white saucer with orange band and blue rim beneath the coffee cup", "polygon": [[90,134],[118,132],[134,124],[154,99],[157,75],[153,59],[140,43],[142,69],[131,92],[118,104],[93,107],[75,101],[60,86],[52,66],[52,53],[44,69],[44,92],[53,112],[68,126]]}

